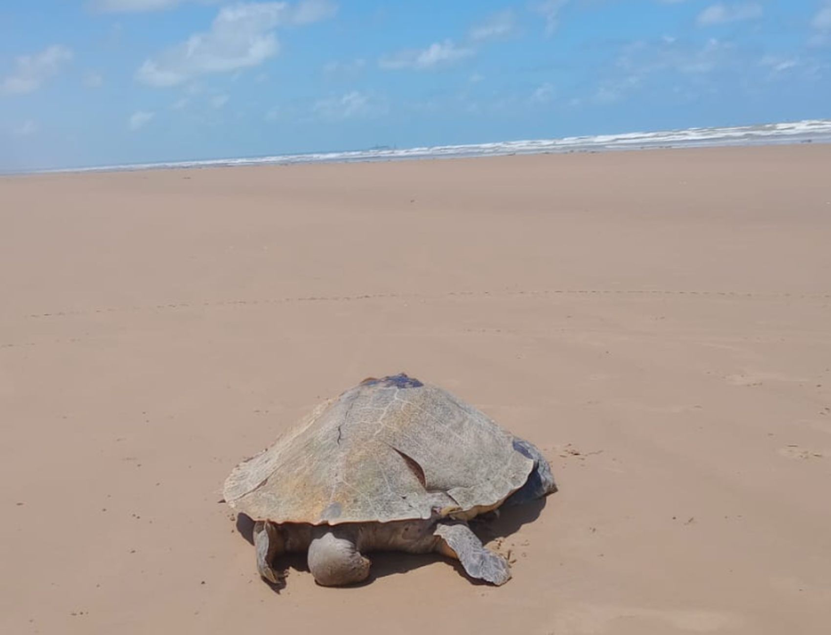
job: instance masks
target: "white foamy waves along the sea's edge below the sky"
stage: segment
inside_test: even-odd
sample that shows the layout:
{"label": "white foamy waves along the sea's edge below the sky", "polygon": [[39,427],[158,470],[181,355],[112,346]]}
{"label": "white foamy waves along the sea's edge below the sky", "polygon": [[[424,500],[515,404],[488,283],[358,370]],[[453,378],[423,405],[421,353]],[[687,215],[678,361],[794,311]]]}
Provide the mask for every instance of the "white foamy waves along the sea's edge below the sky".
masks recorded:
{"label": "white foamy waves along the sea's edge below the sky", "polygon": [[806,120],[730,128],[689,128],[661,132],[630,132],[621,135],[575,136],[563,139],[501,141],[470,145],[434,145],[405,150],[376,148],[346,152],[313,152],[302,155],[273,155],[239,159],[169,161],[133,165],[102,165],[49,172],[87,172],[104,170],[158,170],[236,165],[284,165],[405,159],[459,158],[542,153],[589,152],[605,150],[647,150],[718,145],[770,145],[831,142],[831,120]]}

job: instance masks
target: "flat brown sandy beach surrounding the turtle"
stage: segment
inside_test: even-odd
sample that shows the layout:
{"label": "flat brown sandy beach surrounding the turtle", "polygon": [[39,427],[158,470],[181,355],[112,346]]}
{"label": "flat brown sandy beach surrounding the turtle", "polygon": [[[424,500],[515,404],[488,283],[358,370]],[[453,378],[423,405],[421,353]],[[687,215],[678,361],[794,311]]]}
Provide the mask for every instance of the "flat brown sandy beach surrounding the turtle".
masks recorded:
{"label": "flat brown sandy beach surrounding the turtle", "polygon": [[[0,632],[829,633],[829,165],[0,180]],[[398,371],[550,458],[560,492],[491,531],[514,579],[384,554],[344,589],[295,559],[273,592],[225,475]]]}

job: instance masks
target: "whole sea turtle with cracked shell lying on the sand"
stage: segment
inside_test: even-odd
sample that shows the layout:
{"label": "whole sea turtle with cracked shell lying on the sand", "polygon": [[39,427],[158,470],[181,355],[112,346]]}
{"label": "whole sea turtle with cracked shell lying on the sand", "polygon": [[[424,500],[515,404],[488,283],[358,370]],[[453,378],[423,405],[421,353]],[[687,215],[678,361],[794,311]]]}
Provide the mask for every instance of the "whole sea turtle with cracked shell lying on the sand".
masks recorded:
{"label": "whole sea turtle with cracked shell lying on the sand", "polygon": [[373,551],[438,552],[471,578],[503,584],[508,562],[467,524],[500,505],[554,491],[534,445],[436,386],[399,375],[366,379],[325,401],[225,480],[224,500],[255,521],[257,569],[307,551],[325,586],[369,575]]}

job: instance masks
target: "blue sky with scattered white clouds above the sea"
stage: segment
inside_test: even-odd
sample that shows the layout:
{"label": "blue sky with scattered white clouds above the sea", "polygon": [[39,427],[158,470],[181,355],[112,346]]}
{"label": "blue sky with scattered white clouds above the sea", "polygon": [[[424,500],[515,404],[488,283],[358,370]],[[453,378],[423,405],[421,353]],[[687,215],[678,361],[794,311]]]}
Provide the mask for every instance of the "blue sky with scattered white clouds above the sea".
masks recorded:
{"label": "blue sky with scattered white clouds above the sea", "polygon": [[831,0],[29,0],[0,36],[0,170],[831,117]]}

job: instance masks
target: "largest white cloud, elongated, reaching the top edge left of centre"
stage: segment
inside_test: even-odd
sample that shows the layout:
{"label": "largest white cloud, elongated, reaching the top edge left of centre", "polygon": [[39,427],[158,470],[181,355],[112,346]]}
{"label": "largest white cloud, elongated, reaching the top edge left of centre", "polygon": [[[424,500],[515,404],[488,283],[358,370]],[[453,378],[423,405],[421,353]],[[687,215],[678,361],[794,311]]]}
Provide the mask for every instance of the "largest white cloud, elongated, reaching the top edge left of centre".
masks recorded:
{"label": "largest white cloud, elongated, reaching the top edge left of centre", "polygon": [[176,86],[196,76],[238,71],[277,55],[274,29],[332,15],[330,2],[243,2],[222,7],[210,30],[194,33],[140,66],[136,77],[150,86]]}

